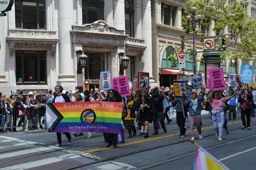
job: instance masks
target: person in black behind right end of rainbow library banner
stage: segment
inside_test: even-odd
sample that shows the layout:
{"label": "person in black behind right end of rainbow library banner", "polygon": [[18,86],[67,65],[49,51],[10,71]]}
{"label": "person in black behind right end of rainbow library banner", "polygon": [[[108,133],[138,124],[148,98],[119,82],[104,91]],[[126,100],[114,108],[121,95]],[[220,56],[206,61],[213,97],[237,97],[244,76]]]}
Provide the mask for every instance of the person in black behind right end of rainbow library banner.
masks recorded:
{"label": "person in black behind right end of rainbow library banner", "polygon": [[[116,90],[110,89],[108,91],[108,95],[106,97],[105,102],[122,102],[122,97]],[[115,133],[105,133],[105,134],[108,139],[108,145],[106,147],[109,148],[111,145],[114,144],[113,148],[117,148],[118,134],[115,134]]]}

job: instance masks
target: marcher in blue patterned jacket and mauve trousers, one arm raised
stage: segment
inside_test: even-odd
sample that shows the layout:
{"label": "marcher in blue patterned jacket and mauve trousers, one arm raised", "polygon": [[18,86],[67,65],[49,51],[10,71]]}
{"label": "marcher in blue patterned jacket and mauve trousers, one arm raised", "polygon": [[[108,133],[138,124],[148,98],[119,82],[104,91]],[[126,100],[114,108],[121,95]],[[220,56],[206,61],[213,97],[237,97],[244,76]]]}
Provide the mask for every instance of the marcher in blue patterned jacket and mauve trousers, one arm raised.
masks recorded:
{"label": "marcher in blue patterned jacket and mauve trousers, one arm raised", "polygon": [[206,84],[203,86],[203,91],[199,98],[197,98],[196,92],[191,92],[191,97],[187,100],[184,105],[189,107],[189,121],[190,121],[190,131],[191,131],[191,140],[195,139],[195,124],[197,131],[199,133],[199,139],[202,139],[202,131],[201,131],[201,103],[205,96],[205,88]]}

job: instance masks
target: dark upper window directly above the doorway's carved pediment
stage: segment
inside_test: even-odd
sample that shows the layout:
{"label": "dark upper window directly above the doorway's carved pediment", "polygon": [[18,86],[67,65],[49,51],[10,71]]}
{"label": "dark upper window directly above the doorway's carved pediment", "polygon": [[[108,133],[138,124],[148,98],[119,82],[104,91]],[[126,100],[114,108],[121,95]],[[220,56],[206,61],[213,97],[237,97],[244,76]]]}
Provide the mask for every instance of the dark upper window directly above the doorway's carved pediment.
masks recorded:
{"label": "dark upper window directly above the doorway's carved pediment", "polygon": [[104,20],[104,0],[82,0],[83,25]]}

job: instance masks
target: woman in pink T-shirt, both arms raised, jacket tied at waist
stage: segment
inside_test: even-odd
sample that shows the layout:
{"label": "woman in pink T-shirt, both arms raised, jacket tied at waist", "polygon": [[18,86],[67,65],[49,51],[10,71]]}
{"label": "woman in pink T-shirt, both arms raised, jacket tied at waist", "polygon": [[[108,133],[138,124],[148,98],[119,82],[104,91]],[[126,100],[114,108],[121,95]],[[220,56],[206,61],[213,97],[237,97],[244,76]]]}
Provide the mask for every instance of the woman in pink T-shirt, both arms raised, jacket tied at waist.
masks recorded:
{"label": "woman in pink T-shirt, both arms raised, jacket tied at waist", "polygon": [[223,110],[223,103],[228,102],[231,98],[236,96],[236,92],[233,96],[228,96],[226,98],[220,98],[219,92],[214,91],[210,87],[209,100],[212,105],[212,121],[214,130],[217,133],[218,141],[222,141],[222,127],[225,120],[225,113]]}

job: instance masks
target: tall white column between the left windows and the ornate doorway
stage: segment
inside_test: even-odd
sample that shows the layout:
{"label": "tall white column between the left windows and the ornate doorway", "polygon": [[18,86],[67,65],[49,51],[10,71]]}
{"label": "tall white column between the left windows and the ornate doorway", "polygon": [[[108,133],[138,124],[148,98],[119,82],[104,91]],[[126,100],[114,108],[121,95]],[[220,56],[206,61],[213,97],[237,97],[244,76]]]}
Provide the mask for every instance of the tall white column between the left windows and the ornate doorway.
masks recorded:
{"label": "tall white column between the left windows and the ornate doorway", "polygon": [[73,1],[58,2],[59,75],[57,82],[76,82],[73,72],[72,41]]}

